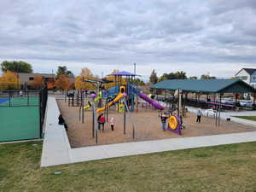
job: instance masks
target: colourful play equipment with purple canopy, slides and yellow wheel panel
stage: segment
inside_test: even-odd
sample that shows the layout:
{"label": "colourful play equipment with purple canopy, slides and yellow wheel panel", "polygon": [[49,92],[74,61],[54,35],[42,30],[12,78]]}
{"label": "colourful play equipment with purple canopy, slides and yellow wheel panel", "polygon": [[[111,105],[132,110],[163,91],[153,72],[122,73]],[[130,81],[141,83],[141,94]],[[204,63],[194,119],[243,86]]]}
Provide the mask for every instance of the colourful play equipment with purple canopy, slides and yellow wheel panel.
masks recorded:
{"label": "colourful play equipment with purple canopy, slides and yellow wheel panel", "polygon": [[[79,107],[79,120],[82,119],[84,123],[84,113],[92,113],[91,115],[91,137],[95,138],[96,143],[98,143],[98,127],[99,122],[96,119],[99,115],[104,115],[108,123],[108,113],[110,108],[115,107],[116,112],[123,113],[123,135],[126,134],[126,124],[127,120],[131,123],[132,139],[137,138],[137,127],[136,122],[131,117],[131,113],[139,112],[139,101],[147,102],[149,105],[153,106],[154,109],[160,111],[160,113],[165,111],[165,108],[159,103],[154,101],[144,94],[141,90],[137,89],[136,85],[133,84],[136,74],[120,72],[109,74],[109,76],[114,76],[114,86],[109,90],[105,90],[103,84],[105,82],[102,79],[90,80],[84,79],[85,82],[90,82],[96,87],[96,91],[90,93],[89,97],[84,96],[84,90],[74,91],[68,96],[68,105]],[[75,98],[76,101],[75,102]],[[87,99],[88,105],[84,106],[84,100]],[[78,102],[79,101],[79,102]],[[76,103],[76,105],[71,104]],[[86,103],[86,102],[85,102]],[[104,104],[103,104],[104,103]],[[83,110],[84,109],[84,110]],[[153,110],[154,110],[153,109]],[[113,108],[111,109],[113,110]],[[175,119],[177,124],[170,123],[171,119]],[[167,120],[166,130],[173,131],[181,135],[181,120],[178,115],[170,114]],[[102,129],[102,132],[104,130]]]}

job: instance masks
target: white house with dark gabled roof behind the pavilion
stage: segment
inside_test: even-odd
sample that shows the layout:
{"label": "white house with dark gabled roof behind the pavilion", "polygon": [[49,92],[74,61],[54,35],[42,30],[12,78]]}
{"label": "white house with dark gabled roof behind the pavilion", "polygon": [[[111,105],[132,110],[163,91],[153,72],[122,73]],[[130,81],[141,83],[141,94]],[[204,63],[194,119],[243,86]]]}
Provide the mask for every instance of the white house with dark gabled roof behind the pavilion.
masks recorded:
{"label": "white house with dark gabled roof behind the pavilion", "polygon": [[256,88],[256,68],[242,68],[235,77]]}

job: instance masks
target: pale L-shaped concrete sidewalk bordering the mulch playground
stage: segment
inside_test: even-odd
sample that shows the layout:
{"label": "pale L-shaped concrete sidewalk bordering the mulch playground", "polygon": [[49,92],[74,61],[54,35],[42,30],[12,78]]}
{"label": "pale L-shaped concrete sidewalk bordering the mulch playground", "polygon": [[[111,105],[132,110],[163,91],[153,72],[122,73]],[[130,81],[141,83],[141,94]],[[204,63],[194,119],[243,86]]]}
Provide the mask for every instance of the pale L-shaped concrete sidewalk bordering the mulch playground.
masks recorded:
{"label": "pale L-shaped concrete sidewalk bordering the mulch playground", "polygon": [[113,157],[150,154],[185,148],[256,142],[256,131],[253,131],[205,137],[182,137],[85,148],[71,148],[65,129],[62,125],[57,124],[59,113],[55,98],[49,97],[41,166],[57,166],[89,160],[102,160]]}

